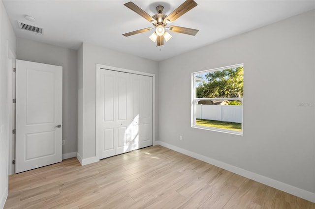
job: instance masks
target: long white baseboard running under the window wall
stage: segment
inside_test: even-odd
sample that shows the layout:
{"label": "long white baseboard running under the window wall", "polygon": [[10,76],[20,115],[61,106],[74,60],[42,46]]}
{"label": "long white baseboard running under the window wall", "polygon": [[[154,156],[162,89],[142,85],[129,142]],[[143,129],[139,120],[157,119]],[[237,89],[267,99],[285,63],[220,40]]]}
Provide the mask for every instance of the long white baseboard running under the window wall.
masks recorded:
{"label": "long white baseboard running under the window wall", "polygon": [[270,179],[268,177],[253,173],[253,172],[248,171],[248,170],[244,170],[242,168],[227,164],[225,162],[222,162],[222,161],[210,158],[210,157],[206,157],[206,156],[191,152],[189,150],[185,150],[183,148],[168,144],[166,142],[155,141],[155,145],[161,145],[161,146],[166,147],[168,149],[174,150],[176,152],[182,153],[182,154],[190,156],[190,157],[194,157],[196,159],[199,159],[199,160],[202,160],[202,161],[207,162],[209,164],[223,168],[223,169],[228,170],[230,172],[233,172],[235,174],[244,176],[248,179],[252,179],[256,182],[266,184],[268,186],[274,187],[276,189],[282,190],[282,191],[287,192],[289,194],[298,196],[300,198],[303,198],[303,199],[306,199],[308,201],[315,203],[315,193],[312,193],[310,191],[306,191],[304,189],[300,189],[300,188],[297,188],[295,186],[292,186],[292,185],[289,185],[286,183],[282,183],[282,182],[276,181],[274,179]]}

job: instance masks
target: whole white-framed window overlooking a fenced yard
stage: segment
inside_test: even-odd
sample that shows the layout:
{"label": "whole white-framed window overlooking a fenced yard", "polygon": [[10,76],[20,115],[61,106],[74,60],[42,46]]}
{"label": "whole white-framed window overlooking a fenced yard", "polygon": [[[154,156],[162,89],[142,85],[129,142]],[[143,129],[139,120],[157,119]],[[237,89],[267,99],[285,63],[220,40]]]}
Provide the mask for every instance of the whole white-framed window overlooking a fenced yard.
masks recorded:
{"label": "whole white-framed window overlooking a fenced yard", "polygon": [[191,127],[243,135],[243,64],[192,73]]}

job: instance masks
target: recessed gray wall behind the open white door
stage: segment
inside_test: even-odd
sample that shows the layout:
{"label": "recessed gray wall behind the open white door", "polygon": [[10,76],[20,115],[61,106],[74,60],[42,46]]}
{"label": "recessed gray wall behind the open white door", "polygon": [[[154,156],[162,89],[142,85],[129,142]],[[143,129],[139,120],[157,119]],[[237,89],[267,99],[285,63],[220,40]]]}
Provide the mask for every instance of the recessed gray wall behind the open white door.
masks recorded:
{"label": "recessed gray wall behind the open white door", "polygon": [[63,154],[77,152],[77,51],[17,39],[17,59],[63,66]]}

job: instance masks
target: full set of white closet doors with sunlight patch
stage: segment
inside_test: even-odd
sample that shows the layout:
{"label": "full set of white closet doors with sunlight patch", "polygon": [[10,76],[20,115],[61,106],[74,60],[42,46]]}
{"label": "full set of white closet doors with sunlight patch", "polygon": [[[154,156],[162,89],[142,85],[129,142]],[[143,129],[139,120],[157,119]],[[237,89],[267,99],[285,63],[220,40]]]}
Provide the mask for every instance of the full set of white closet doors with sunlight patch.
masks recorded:
{"label": "full set of white closet doors with sunlight patch", "polygon": [[98,79],[100,159],[152,145],[153,78],[100,69]]}

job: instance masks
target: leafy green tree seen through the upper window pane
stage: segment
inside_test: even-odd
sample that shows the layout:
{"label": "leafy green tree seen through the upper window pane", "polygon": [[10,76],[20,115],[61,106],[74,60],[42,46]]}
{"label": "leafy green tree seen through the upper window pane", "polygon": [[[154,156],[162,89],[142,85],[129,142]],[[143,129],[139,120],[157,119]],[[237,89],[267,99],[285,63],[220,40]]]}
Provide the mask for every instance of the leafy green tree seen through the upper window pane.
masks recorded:
{"label": "leafy green tree seen through the upper window pane", "polygon": [[197,98],[243,97],[243,67],[209,72],[204,81],[196,87]]}

